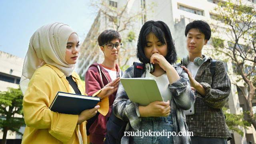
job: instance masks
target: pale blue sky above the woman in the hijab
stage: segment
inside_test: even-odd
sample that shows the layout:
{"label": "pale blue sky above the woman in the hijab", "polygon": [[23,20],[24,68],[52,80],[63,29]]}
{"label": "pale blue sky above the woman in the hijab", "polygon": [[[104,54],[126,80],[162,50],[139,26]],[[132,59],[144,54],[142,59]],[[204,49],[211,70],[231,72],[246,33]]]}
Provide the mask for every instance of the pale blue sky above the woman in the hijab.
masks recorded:
{"label": "pale blue sky above the woman in the hijab", "polygon": [[71,26],[83,42],[97,15],[91,0],[0,0],[0,51],[25,58],[29,40],[45,24]]}

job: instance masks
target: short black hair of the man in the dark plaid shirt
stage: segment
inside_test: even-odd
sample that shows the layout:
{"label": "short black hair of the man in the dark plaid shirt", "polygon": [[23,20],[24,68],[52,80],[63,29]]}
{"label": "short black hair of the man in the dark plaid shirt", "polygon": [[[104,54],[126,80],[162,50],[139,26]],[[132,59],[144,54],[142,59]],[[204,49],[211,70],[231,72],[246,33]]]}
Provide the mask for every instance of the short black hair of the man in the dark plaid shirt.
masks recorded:
{"label": "short black hair of the man in the dark plaid shirt", "polygon": [[194,20],[193,22],[190,22],[185,29],[185,36],[187,37],[188,31],[192,28],[195,28],[199,30],[202,34],[204,34],[204,39],[210,40],[211,38],[211,28],[209,24],[203,20]]}

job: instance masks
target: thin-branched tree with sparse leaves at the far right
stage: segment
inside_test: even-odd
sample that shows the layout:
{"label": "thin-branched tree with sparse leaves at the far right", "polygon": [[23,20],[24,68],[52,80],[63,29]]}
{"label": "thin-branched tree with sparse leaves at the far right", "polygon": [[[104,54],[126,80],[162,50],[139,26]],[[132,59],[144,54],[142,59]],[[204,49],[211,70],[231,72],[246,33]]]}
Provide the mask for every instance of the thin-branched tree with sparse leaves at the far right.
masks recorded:
{"label": "thin-branched tree with sparse leaves at the far right", "polygon": [[[232,76],[236,77],[232,83],[242,91],[248,106],[248,120],[256,129],[256,118],[252,110],[252,100],[256,94],[256,9],[252,5],[243,4],[241,0],[228,0],[219,2],[214,10],[217,15],[213,17],[216,21],[212,23],[213,47],[210,48],[211,51],[208,50],[208,54],[219,60],[232,62]],[[239,82],[248,88],[248,93]],[[234,120],[235,124],[240,119],[241,116],[228,114],[226,122],[230,124]],[[230,129],[236,130],[234,127]]]}

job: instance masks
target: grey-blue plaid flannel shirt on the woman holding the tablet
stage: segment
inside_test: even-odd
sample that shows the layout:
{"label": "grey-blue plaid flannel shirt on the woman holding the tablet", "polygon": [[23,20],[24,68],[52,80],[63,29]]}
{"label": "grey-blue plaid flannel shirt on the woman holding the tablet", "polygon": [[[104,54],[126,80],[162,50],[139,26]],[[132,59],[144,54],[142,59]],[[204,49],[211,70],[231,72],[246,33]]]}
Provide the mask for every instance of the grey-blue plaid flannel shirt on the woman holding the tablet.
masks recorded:
{"label": "grey-blue plaid flannel shirt on the woman holding the tablet", "polygon": [[[194,92],[191,90],[188,74],[182,68],[175,67],[178,72],[180,79],[176,82],[169,84],[170,92],[172,93],[171,103],[171,114],[172,121],[174,123],[174,131],[188,132],[188,126],[185,122],[184,110],[188,110],[195,102]],[[142,78],[145,78],[145,73],[142,74]],[[122,78],[134,78],[134,66],[129,67]],[[128,98],[122,83],[120,82],[116,94],[116,100],[113,104],[114,114],[124,121],[129,121],[125,132],[132,132],[140,128],[140,112],[138,103],[131,102]],[[191,144],[189,136],[174,136],[174,144]],[[121,144],[133,144],[132,136],[123,136]]]}

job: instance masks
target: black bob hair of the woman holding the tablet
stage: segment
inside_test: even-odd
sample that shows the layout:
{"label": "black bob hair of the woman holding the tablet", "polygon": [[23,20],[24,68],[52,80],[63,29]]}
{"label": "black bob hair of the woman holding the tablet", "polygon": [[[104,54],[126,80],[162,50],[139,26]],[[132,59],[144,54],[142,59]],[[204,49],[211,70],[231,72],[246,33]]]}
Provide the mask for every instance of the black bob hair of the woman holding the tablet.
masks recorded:
{"label": "black bob hair of the woman holding the tablet", "polygon": [[[169,27],[166,23],[162,21],[147,21],[142,26],[140,30],[140,35],[138,37],[138,44],[137,44],[137,58],[142,62],[143,64],[150,63],[150,59],[148,59],[144,53],[144,48],[147,44],[146,37],[149,33],[153,33],[162,44],[167,43],[167,55],[165,59],[170,63],[174,64],[177,61],[177,52],[174,45],[174,40],[172,39],[172,35],[170,32]],[[166,39],[166,42],[164,41],[164,38]]]}

